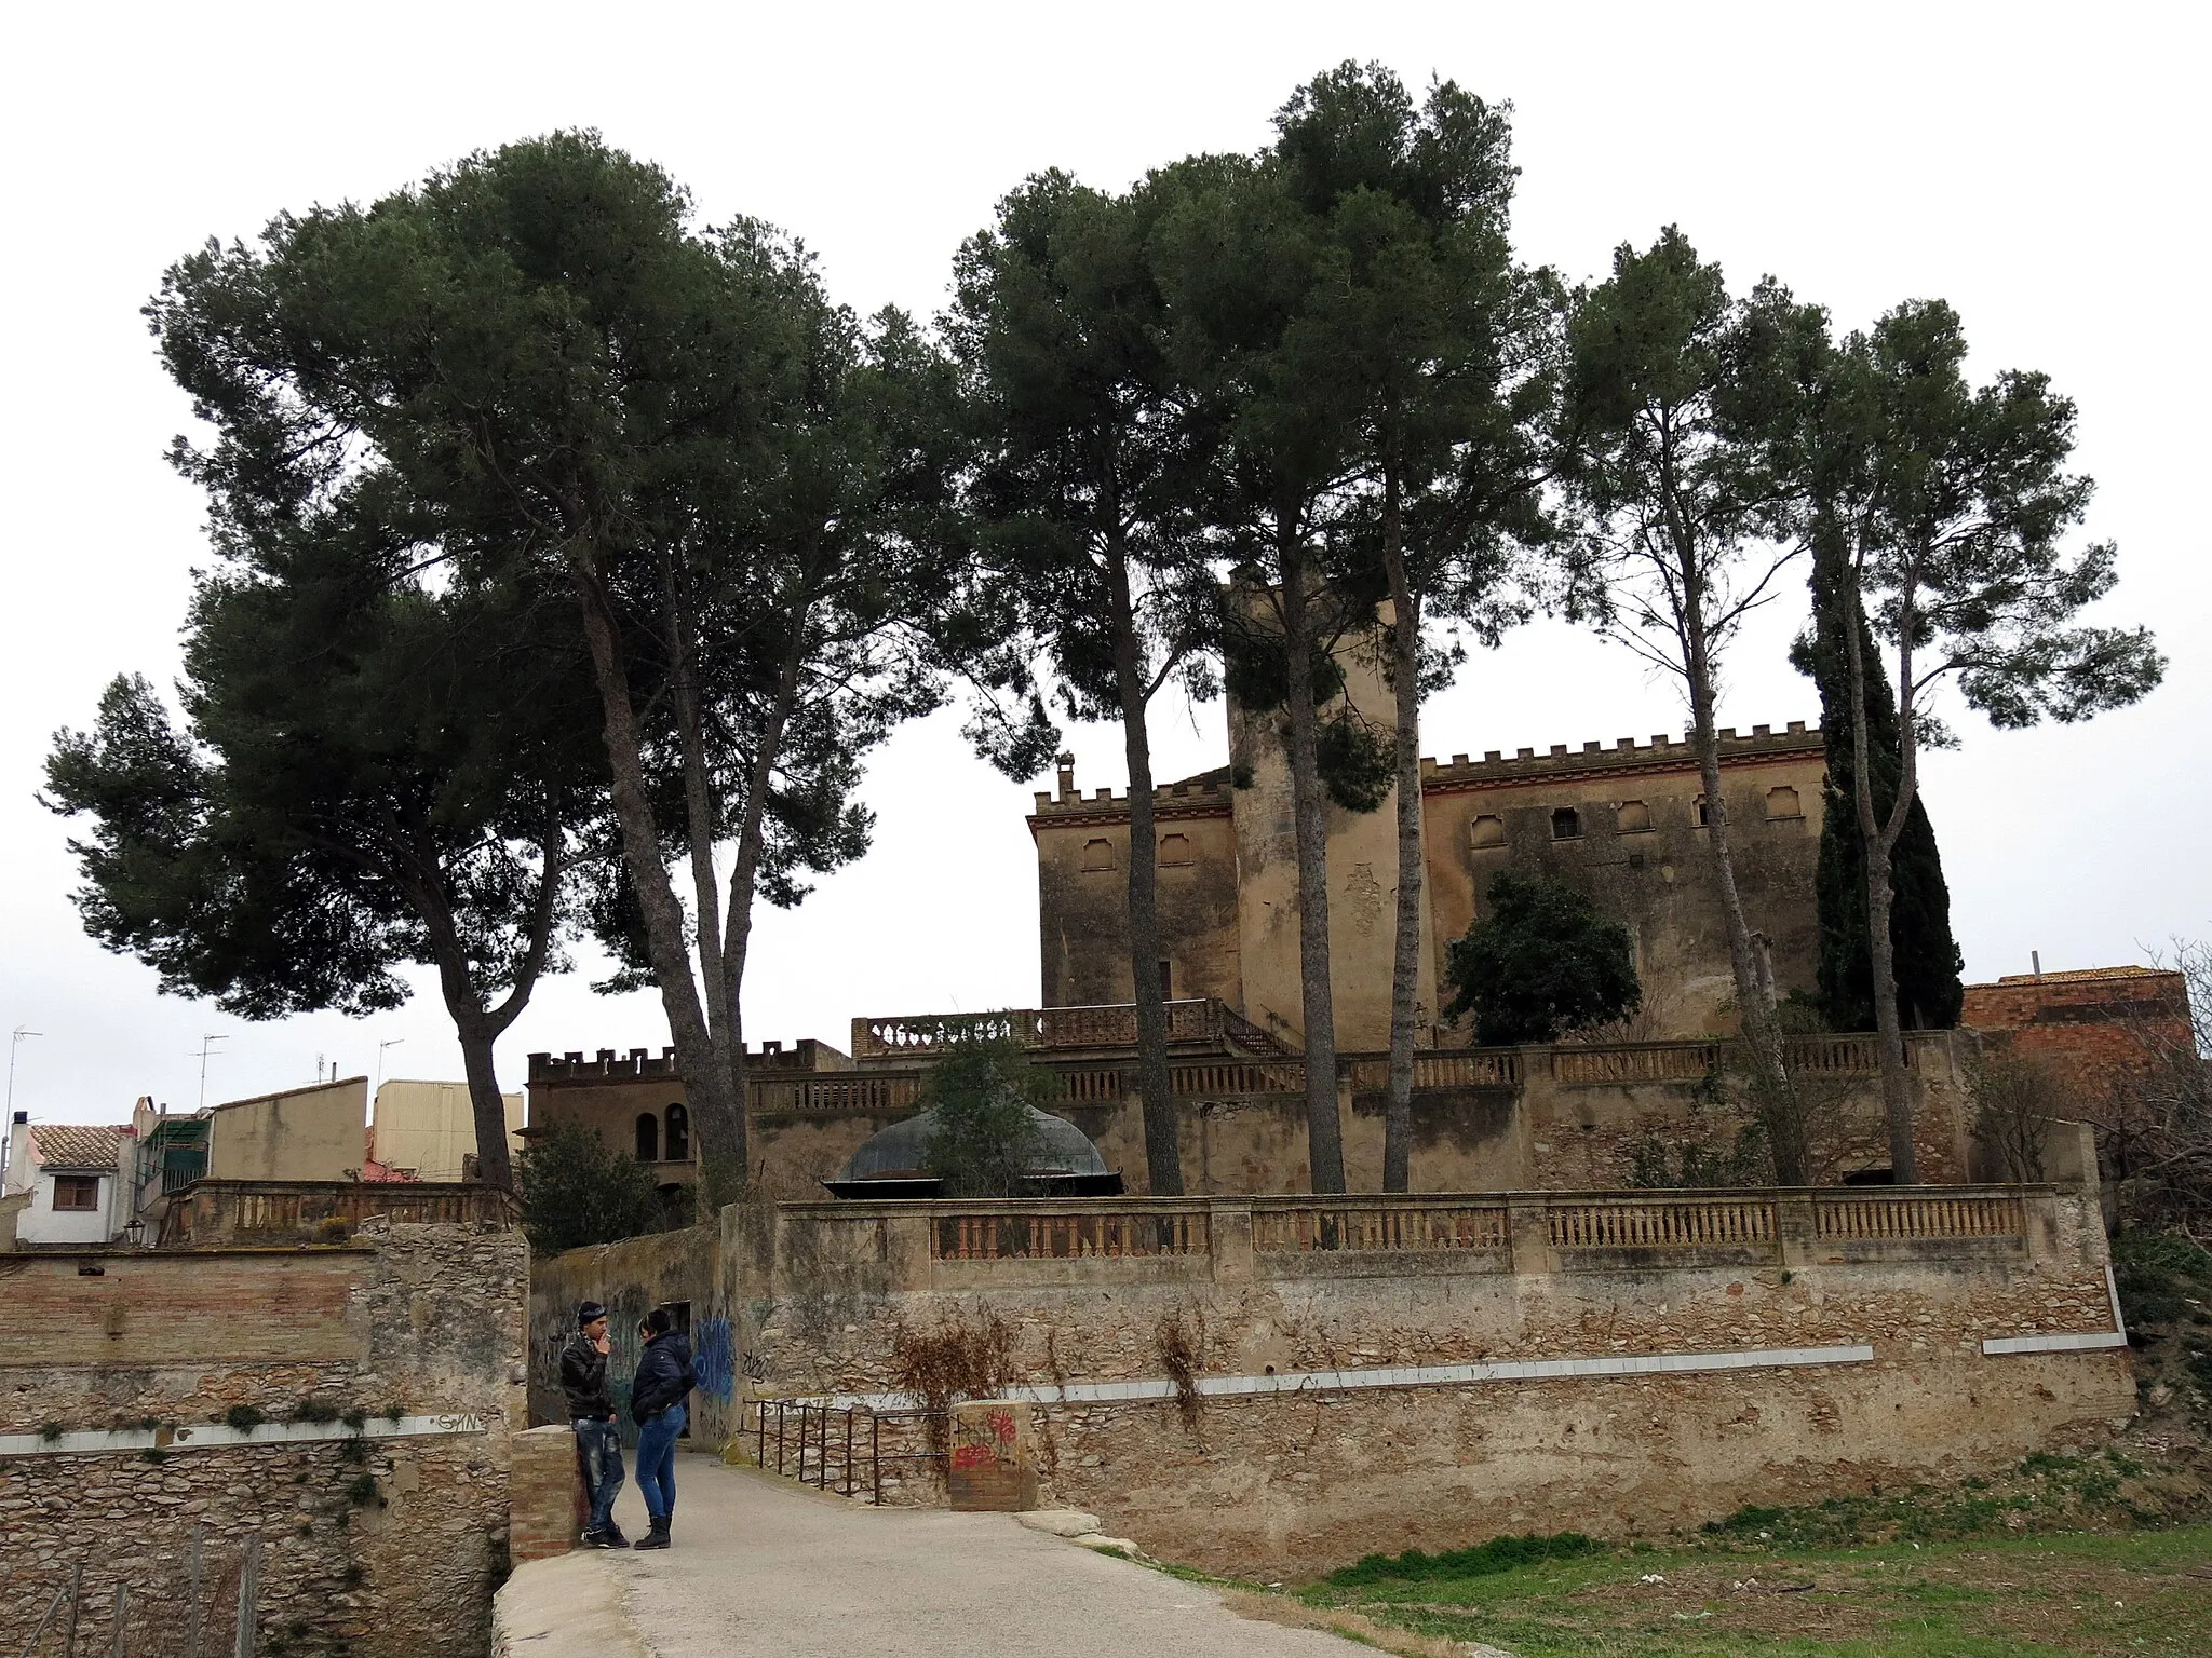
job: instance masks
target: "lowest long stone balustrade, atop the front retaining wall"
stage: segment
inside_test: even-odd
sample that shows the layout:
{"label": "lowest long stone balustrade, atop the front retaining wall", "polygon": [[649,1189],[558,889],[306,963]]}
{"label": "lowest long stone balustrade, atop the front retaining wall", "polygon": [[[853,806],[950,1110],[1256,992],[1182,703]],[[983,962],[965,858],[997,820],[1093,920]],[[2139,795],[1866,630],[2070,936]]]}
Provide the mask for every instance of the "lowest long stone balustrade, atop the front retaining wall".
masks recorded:
{"label": "lowest long stone balustrade, atop the front retaining wall", "polygon": [[1230,1282],[2031,1260],[2081,1231],[2059,1222],[2081,1203],[2057,1185],[801,1203],[779,1209],[779,1227],[794,1258],[905,1262],[920,1289],[1040,1269],[1110,1284],[1119,1271]]}

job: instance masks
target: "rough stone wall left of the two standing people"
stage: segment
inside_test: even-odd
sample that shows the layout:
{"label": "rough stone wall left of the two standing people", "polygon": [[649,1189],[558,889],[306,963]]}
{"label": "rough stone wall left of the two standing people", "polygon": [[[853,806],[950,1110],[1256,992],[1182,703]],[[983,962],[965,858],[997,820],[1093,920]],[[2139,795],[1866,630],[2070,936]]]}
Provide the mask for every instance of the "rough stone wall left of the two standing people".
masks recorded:
{"label": "rough stone wall left of the two standing people", "polygon": [[[336,1249],[0,1260],[0,1627],[84,1567],[84,1625],[226,1649],[259,1545],[263,1654],[473,1658],[507,1572],[526,1251],[372,1218]],[[197,1594],[195,1585],[197,1556]],[[40,1647],[60,1651],[60,1634]]]}

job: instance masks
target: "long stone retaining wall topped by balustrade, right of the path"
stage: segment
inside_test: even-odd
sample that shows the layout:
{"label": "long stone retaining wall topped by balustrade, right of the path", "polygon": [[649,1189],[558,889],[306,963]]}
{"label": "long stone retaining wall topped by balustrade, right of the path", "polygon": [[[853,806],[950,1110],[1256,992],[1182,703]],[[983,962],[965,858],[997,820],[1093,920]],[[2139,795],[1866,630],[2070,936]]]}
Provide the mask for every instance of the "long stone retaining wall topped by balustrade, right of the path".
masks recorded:
{"label": "long stone retaining wall topped by balustrade, right of the path", "polygon": [[2081,1189],[1110,1209],[730,1211],[748,1386],[896,1406],[900,1329],[1004,1340],[1040,1501],[1252,1574],[1971,1475],[2135,1402]]}

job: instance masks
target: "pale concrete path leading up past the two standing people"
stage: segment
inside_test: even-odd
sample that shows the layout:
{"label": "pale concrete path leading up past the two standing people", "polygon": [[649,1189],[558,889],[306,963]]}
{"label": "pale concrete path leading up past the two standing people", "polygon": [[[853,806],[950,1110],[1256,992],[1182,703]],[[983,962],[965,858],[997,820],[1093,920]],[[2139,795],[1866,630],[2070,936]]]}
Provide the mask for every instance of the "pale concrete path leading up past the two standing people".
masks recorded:
{"label": "pale concrete path leading up past the two standing people", "polygon": [[[644,1534],[635,1483],[624,1486],[615,1519],[630,1536]],[[1367,1651],[1332,1634],[1239,1618],[1214,1589],[1031,1532],[1011,1514],[876,1510],[710,1457],[677,1457],[672,1550],[575,1559],[613,1574],[653,1658]],[[551,1658],[546,1643],[520,1654]]]}

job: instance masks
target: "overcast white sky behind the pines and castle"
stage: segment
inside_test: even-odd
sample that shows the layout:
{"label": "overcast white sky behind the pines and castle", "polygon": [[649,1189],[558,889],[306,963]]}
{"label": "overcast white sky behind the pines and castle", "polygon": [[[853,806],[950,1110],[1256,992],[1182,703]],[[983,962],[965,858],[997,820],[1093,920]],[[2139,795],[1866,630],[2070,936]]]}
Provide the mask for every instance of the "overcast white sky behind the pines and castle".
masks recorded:
{"label": "overcast white sky behind the pines and castle", "polygon": [[[721,4],[24,7],[0,35],[9,318],[0,398],[0,1026],[15,1105],[119,1121],[345,1074],[458,1077],[436,993],[369,1021],[250,1026],[159,997],[84,937],[64,827],[33,796],[60,725],[142,670],[168,683],[201,504],[161,460],[188,422],[137,307],[206,237],[365,199],[471,148],[597,126],[661,161],[708,219],[803,234],[834,292],[929,314],[951,252],[1026,172],[1119,186],[1190,150],[1254,148],[1294,84],[1343,57],[1513,99],[1517,241],[1571,276],[1679,221],[1736,287],[1776,272],[1845,325],[1955,303],[1973,371],[2039,367],[2081,407],[2093,533],[2121,546],[2117,621],[2172,672],[2141,707],[1995,734],[1929,765],[1969,977],[2139,959],[2212,933],[2212,577],[2197,482],[2212,323],[2208,27],[2197,7]],[[1816,718],[1781,661],[1803,601],[1730,670],[1736,725]],[[1155,721],[1159,776],[1217,765],[1221,710]],[[1427,712],[1427,752],[1648,738],[1672,688],[1617,648],[1528,628]],[[1119,787],[1119,736],[1077,732],[1077,780]],[[759,1037],[845,1046],[852,1015],[1037,995],[1029,794],[958,718],[869,767],[876,851],[796,913],[768,911],[745,993]],[[540,988],[500,1048],[659,1048],[648,995]]]}

